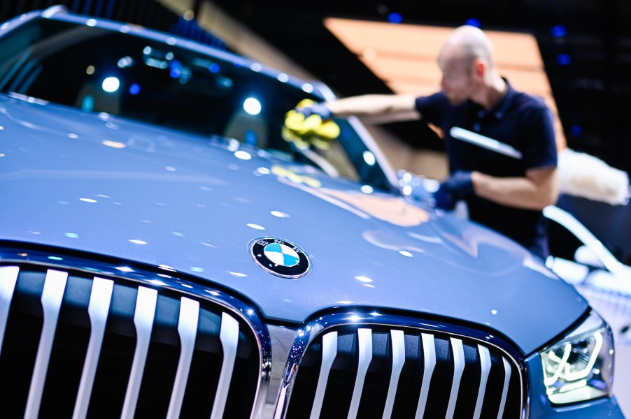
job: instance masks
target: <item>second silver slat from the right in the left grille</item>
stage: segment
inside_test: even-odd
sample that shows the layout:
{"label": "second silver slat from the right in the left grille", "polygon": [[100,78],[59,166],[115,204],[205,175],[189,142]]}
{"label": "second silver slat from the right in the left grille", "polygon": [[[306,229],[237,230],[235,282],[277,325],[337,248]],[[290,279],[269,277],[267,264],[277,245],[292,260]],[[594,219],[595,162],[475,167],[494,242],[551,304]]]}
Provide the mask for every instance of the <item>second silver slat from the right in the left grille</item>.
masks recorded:
{"label": "second silver slat from the right in the left grille", "polygon": [[178,335],[180,335],[181,344],[180,360],[178,361],[178,372],[176,373],[175,381],[173,381],[169,410],[166,412],[167,418],[180,417],[184,390],[186,390],[188,373],[190,372],[190,364],[195,349],[198,322],[199,302],[187,297],[180,298],[180,317],[178,318]]}

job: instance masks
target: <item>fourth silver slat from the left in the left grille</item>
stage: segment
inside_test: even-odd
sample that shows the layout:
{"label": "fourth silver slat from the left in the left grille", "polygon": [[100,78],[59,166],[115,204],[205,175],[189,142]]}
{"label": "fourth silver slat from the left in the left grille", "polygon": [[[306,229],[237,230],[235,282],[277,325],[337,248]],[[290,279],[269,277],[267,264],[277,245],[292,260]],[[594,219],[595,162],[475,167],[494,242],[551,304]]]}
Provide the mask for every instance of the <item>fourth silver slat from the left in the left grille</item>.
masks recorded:
{"label": "fourth silver slat from the left in the left grille", "polygon": [[134,325],[136,325],[136,350],[134,351],[134,361],[132,371],[129,372],[129,382],[125,392],[125,403],[122,405],[121,418],[132,419],[136,412],[136,403],[140,392],[140,385],[143,380],[143,371],[149,351],[151,341],[151,330],[153,329],[153,318],[155,316],[155,306],[157,304],[157,291],[153,288],[140,286],[136,297],[136,312],[134,313]]}

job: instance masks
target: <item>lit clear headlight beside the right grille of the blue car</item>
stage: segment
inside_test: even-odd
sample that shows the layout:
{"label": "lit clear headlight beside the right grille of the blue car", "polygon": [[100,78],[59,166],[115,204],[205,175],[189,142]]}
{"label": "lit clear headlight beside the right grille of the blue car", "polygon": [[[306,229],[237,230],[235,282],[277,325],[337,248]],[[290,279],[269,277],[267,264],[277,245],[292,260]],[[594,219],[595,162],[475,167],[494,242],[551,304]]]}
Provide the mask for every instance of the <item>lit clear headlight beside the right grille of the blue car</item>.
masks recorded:
{"label": "lit clear headlight beside the right grille of the blue car", "polygon": [[553,404],[585,402],[611,394],[614,336],[595,312],[540,355],[544,384]]}

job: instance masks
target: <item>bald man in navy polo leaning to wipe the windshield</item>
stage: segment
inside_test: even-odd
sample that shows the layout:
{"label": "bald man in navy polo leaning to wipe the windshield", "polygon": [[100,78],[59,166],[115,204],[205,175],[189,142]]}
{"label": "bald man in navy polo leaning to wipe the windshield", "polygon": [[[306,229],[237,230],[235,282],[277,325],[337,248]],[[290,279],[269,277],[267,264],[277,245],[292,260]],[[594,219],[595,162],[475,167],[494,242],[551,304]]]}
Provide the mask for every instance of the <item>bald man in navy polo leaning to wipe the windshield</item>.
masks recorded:
{"label": "bald man in navy polo leaning to wipe the windshield", "polygon": [[[542,210],[558,198],[557,149],[550,110],[518,92],[492,61],[492,45],[476,27],[455,29],[441,48],[441,91],[431,96],[363,95],[302,109],[323,117],[367,116],[383,121],[423,119],[444,133],[451,176],[437,191],[437,206],[453,209],[464,199],[469,217],[494,228],[533,253],[548,256]],[[517,149],[504,156],[451,137],[465,128]]]}

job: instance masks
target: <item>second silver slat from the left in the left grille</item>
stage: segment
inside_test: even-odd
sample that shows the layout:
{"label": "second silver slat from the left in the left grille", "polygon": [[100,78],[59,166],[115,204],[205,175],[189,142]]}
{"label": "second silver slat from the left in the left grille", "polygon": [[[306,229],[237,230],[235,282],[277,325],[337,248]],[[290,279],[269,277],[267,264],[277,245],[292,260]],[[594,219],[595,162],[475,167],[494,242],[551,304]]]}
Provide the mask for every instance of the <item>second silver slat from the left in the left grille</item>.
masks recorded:
{"label": "second silver slat from the left in the left grille", "polygon": [[57,330],[57,320],[59,311],[62,308],[64,291],[68,272],[49,269],[46,272],[44,289],[42,291],[41,302],[44,314],[44,324],[37,348],[35,367],[29,388],[29,398],[24,411],[24,418],[37,418],[39,416],[39,406],[41,404],[42,392],[48,372],[48,362],[52,351],[52,342],[55,340],[55,330]]}

